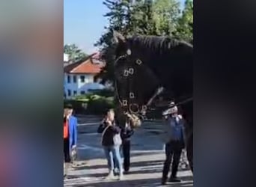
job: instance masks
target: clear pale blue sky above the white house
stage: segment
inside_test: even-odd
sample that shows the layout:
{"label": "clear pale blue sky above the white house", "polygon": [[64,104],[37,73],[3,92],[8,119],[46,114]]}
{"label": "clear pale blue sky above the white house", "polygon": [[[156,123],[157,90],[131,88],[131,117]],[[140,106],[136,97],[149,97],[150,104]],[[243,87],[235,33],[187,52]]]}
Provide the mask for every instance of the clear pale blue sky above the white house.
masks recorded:
{"label": "clear pale blue sky above the white house", "polygon": [[64,0],[64,44],[75,43],[88,54],[96,52],[94,43],[108,25],[103,17],[108,11],[103,0]]}

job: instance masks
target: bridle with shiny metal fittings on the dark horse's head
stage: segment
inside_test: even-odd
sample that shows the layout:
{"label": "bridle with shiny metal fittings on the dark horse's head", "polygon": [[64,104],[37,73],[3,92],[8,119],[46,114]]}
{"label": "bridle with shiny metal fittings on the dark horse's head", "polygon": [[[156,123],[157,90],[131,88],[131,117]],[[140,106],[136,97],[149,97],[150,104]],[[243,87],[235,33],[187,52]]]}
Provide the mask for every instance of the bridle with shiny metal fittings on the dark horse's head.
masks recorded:
{"label": "bridle with shiny metal fittings on the dark horse's head", "polygon": [[[118,58],[116,58],[116,60],[114,62],[114,67],[118,63],[118,61],[120,61],[122,59],[125,59],[126,61],[129,61],[128,58],[130,57],[130,55],[131,55],[131,50],[128,49],[127,53],[125,55],[121,55]],[[137,64],[138,66],[144,66],[145,68],[147,68],[147,70],[150,70],[150,67],[148,67],[146,64],[143,64],[143,61],[141,61],[141,59],[139,59],[139,58],[137,58],[135,60],[135,64]],[[134,68],[130,67],[128,70],[124,70],[124,75],[123,76],[126,76],[127,78],[129,78],[129,76],[132,76],[134,74],[134,72],[135,72]],[[150,70],[150,72],[153,73],[152,70]],[[156,76],[155,73],[154,73],[153,76],[158,77],[158,76]],[[115,91],[116,91],[116,96],[117,96],[118,102],[119,102],[119,104],[121,105],[122,108],[125,108],[125,111],[129,111],[129,113],[131,113],[131,114],[137,114],[137,115],[140,115],[140,116],[143,117],[146,114],[147,109],[149,108],[149,106],[153,102],[153,99],[155,99],[156,96],[159,96],[159,94],[164,91],[164,88],[161,87],[161,86],[156,88],[156,91],[153,93],[152,96],[150,96],[150,99],[146,103],[144,103],[144,105],[141,106],[141,108],[139,108],[140,106],[137,103],[130,102],[132,99],[135,99],[135,94],[132,92],[130,82],[129,82],[129,86],[127,87],[127,92],[129,93],[129,98],[125,98],[125,99],[120,98],[120,94],[118,92],[118,82],[117,82],[117,80],[115,80]],[[191,102],[191,101],[192,101],[192,96],[187,98],[187,99],[184,99],[180,102],[177,102],[175,105],[183,105],[183,104],[186,104],[186,102]],[[171,102],[172,101],[170,101],[169,103],[171,103]],[[132,106],[136,106],[137,110],[133,111]],[[167,108],[171,108],[173,106],[174,105],[170,105],[170,104],[166,105]]]}

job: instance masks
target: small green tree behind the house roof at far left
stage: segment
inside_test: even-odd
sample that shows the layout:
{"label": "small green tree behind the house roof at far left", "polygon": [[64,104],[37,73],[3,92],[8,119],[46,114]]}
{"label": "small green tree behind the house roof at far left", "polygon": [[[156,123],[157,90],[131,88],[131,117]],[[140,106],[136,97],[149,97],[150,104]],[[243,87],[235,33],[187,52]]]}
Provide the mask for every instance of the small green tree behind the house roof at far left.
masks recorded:
{"label": "small green tree behind the house roof at far left", "polygon": [[76,62],[76,61],[82,61],[83,59],[87,58],[88,55],[85,54],[85,52],[82,52],[81,49],[79,49],[76,44],[70,44],[64,46],[64,53],[69,55],[70,61]]}

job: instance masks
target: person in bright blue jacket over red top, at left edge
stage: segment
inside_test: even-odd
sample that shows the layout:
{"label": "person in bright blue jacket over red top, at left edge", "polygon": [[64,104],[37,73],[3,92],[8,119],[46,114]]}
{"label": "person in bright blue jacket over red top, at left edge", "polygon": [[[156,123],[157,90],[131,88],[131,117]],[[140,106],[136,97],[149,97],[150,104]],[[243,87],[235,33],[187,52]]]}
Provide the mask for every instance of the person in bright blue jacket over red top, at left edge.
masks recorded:
{"label": "person in bright blue jacket over red top, at left edge", "polygon": [[72,105],[64,105],[64,177],[70,168],[70,151],[76,148],[77,142],[77,119],[72,113]]}

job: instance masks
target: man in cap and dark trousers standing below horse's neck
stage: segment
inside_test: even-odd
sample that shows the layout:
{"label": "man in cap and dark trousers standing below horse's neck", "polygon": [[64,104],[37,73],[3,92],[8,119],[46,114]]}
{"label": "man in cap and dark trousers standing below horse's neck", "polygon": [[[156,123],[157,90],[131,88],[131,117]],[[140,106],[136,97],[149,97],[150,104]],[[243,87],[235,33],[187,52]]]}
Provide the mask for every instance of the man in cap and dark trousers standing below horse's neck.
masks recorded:
{"label": "man in cap and dark trousers standing below horse's neck", "polygon": [[[165,128],[165,164],[162,170],[162,185],[165,185],[168,179],[168,173],[171,165],[171,177],[169,182],[177,183],[181,180],[177,179],[177,170],[180,162],[180,155],[185,147],[185,129],[183,117],[178,114],[177,106],[171,103],[171,108],[165,111],[166,120]],[[172,163],[171,160],[173,159]]]}

